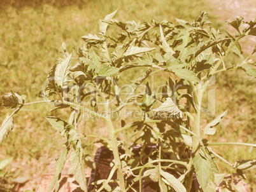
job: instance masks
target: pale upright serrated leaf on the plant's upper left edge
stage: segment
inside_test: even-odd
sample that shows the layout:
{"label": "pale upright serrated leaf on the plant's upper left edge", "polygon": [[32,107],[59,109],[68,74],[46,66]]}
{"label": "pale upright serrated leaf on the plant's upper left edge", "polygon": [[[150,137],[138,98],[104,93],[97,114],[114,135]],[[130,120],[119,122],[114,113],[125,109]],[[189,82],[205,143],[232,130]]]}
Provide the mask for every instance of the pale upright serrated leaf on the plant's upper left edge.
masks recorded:
{"label": "pale upright serrated leaf on the plant's upper left edge", "polygon": [[61,88],[66,84],[68,81],[68,74],[69,74],[69,69],[71,67],[71,56],[70,54],[65,60],[60,62],[60,64],[57,64],[54,72],[54,80],[55,83],[60,86]]}

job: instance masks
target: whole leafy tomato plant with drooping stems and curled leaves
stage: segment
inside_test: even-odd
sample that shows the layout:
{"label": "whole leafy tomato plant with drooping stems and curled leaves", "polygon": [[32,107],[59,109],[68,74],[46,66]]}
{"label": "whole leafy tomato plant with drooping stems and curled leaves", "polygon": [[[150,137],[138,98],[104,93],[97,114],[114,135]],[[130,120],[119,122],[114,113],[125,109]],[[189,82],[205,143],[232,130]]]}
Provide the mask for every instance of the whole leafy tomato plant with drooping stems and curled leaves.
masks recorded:
{"label": "whole leafy tomato plant with drooping stems and curled leaves", "polygon": [[[50,186],[55,191],[59,189],[60,174],[69,153],[69,174],[75,175],[80,187],[87,191],[84,164],[88,162],[85,160],[88,153],[87,145],[82,144],[87,137],[99,139],[113,151],[110,176],[95,182],[97,191],[136,191],[135,182],[141,191],[144,179],[157,182],[160,191],[190,191],[194,174],[200,190],[215,191],[220,183],[217,180],[224,179],[223,175],[216,174],[217,159],[239,175],[255,167],[255,160],[238,160],[232,165],[210,147],[255,147],[255,144],[207,140],[228,112],[218,114],[204,128],[201,128],[201,113],[216,116],[213,110],[203,107],[208,86],[216,74],[241,69],[255,77],[255,62],[251,58],[255,51],[244,58],[239,40],[256,36],[256,22],[244,22],[238,17],[228,23],[237,34],[226,32],[223,36],[211,27],[204,12],[192,24],[178,19],[176,24],[165,20],[120,22],[113,18],[115,13],[99,21],[99,33],[82,37],[85,41],[82,47],[69,53],[62,43],[62,57],[41,86],[41,101],[26,102],[25,95],[15,92],[3,96],[3,106],[14,111],[1,125],[0,143],[13,129],[13,115],[22,107],[47,103],[52,106],[51,111],[63,108],[71,111],[68,121],[46,117],[50,125],[66,137]],[[236,64],[225,62],[230,54],[239,58]],[[132,115],[125,116],[128,109]],[[79,132],[84,114],[103,120],[109,135],[99,137]],[[133,123],[127,124],[131,120]],[[119,140],[117,135],[124,139]],[[153,151],[155,158],[148,157],[144,162],[143,147],[151,144],[157,146]],[[133,156],[132,146],[141,146],[139,158]],[[124,153],[121,154],[120,149],[124,149]],[[115,172],[117,179],[112,179]],[[128,184],[129,175],[136,177]],[[111,189],[110,182],[116,182],[117,187]]]}

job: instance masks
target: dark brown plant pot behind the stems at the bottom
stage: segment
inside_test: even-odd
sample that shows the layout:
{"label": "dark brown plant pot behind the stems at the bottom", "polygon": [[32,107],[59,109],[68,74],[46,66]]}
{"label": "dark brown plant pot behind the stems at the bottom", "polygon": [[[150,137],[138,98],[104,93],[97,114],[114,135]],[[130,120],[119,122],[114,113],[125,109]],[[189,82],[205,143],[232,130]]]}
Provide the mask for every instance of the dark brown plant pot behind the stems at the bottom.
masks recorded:
{"label": "dark brown plant pot behind the stems at the bottom", "polygon": [[[142,147],[139,147],[139,146],[133,147],[133,149],[132,149],[132,152],[134,153],[133,157],[139,156],[141,148]],[[157,149],[156,145],[146,146],[145,149],[143,150],[143,152],[147,156],[147,155],[152,154],[152,152],[155,151],[155,149]],[[121,154],[124,154],[124,150],[122,150],[122,149],[120,149],[119,152]],[[150,158],[154,159],[154,158],[156,158],[156,155],[153,154],[152,156],[150,156]],[[148,159],[145,158],[144,161],[147,161],[147,160]],[[111,161],[113,161],[113,153],[112,153],[112,151],[110,151],[110,149],[108,149],[105,146],[100,147],[96,151],[94,161],[96,163],[96,168],[93,169],[91,172],[90,179],[88,182],[88,191],[92,191],[95,187],[94,185],[92,185],[90,183],[99,181],[100,179],[108,179],[108,175],[111,172],[110,163],[111,163]],[[176,176],[178,177],[178,175],[176,175]],[[112,179],[117,179],[116,173],[113,175]],[[131,184],[132,179],[134,179],[134,176],[130,176],[125,180],[126,180],[127,184]],[[111,186],[112,189],[115,189],[115,187],[117,186],[117,184],[115,184],[115,183],[110,183],[109,185]],[[138,181],[135,182],[132,185],[132,188],[136,189],[136,191],[139,191],[139,182]],[[196,189],[198,189],[198,188],[199,188],[199,184],[197,182],[196,175],[194,175],[191,191],[196,191]],[[127,192],[132,192],[132,191],[133,191],[132,189],[129,189]],[[158,184],[158,182],[143,180],[142,181],[142,191],[143,192],[159,192],[160,191],[159,184]]]}

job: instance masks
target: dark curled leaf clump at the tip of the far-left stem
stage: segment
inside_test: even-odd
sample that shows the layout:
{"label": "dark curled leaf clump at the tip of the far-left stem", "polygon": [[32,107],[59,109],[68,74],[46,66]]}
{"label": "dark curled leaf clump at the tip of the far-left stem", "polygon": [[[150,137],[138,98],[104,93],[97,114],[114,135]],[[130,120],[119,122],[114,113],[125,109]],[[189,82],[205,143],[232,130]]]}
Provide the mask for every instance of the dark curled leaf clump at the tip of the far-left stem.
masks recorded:
{"label": "dark curled leaf clump at the tip of the far-left stem", "polygon": [[4,95],[2,99],[3,106],[11,109],[16,108],[18,105],[22,105],[24,103],[22,97],[14,92],[7,93],[7,95]]}

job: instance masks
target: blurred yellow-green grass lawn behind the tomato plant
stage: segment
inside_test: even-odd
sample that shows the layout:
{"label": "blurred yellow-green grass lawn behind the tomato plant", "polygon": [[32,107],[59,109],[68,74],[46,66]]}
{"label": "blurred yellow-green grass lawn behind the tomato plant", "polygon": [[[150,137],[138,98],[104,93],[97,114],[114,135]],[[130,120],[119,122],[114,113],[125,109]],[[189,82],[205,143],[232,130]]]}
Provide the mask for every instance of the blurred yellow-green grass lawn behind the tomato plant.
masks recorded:
{"label": "blurred yellow-green grass lawn behind the tomato plant", "polygon": [[[82,46],[81,37],[97,32],[99,18],[117,9],[116,18],[123,21],[150,21],[155,18],[175,22],[174,18],[180,18],[191,22],[205,10],[210,13],[209,17],[215,26],[222,28],[221,24],[224,23],[205,1],[97,0],[80,1],[78,4],[75,1],[66,4],[58,1],[24,2],[13,1],[0,6],[0,95],[11,89],[20,95],[27,95],[28,102],[39,100],[37,95],[40,85],[59,57],[62,41],[69,51],[75,46]],[[229,114],[211,140],[255,142],[254,85],[255,79],[244,77],[244,74],[238,72],[231,71],[227,76],[217,78],[217,114],[227,108]],[[38,184],[36,177],[48,172],[48,163],[57,157],[60,144],[64,143],[62,137],[46,123],[44,116],[68,118],[68,114],[64,110],[48,113],[49,109],[50,106],[37,105],[21,111],[15,117],[14,130],[0,147],[0,158],[13,156],[15,161],[12,166],[19,170],[18,174],[31,177],[29,189],[35,189]],[[10,114],[10,110],[0,107],[0,121],[3,121],[6,114]],[[206,118],[208,122],[211,120]],[[82,123],[82,131],[86,134],[107,134],[103,123],[92,123],[86,118]],[[224,154],[232,163],[238,158],[255,158],[255,154],[247,153],[250,150],[232,146],[218,148],[219,153]],[[253,172],[248,174],[252,188],[254,175]]]}

